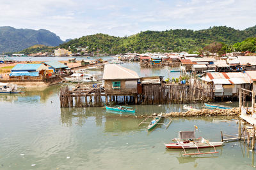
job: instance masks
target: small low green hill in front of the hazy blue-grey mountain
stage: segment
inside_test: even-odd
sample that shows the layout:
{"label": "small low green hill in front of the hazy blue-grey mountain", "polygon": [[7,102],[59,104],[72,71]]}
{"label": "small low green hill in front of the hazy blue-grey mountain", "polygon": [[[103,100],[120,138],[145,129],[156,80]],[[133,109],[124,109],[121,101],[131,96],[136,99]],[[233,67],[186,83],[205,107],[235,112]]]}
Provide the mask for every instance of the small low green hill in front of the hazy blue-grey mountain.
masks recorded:
{"label": "small low green hill in front of the hazy blue-grey mountain", "polygon": [[24,53],[24,54],[30,54],[30,53],[38,53],[38,52],[49,52],[52,53],[52,50],[56,49],[54,46],[46,46],[46,45],[33,45],[30,46],[29,48],[26,48],[19,53]]}

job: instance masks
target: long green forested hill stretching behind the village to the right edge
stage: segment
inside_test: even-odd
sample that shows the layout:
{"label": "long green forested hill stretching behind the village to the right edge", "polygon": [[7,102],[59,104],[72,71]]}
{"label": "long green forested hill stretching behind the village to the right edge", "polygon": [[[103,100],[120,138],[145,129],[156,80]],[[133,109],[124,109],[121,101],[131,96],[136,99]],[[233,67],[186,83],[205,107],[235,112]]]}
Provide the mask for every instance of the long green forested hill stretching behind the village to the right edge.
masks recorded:
{"label": "long green forested hill stretching behind the village to the right edge", "polygon": [[61,48],[87,47],[88,52],[124,53],[124,52],[178,52],[195,51],[212,42],[223,42],[228,45],[241,42],[256,36],[256,26],[243,31],[231,27],[219,26],[199,31],[171,29],[166,31],[144,31],[129,37],[115,37],[106,34],[95,34],[72,39],[63,43]]}

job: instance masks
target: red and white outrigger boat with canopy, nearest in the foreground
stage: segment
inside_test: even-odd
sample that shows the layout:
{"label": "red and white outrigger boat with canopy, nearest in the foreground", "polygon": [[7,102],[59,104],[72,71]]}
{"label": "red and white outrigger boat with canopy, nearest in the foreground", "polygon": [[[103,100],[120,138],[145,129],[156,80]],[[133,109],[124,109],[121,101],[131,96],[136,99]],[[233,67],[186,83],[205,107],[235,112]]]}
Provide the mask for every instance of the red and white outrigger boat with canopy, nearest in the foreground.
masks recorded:
{"label": "red and white outrigger boat with canopy, nearest in the foreground", "polygon": [[[202,137],[195,138],[195,131],[180,131],[179,138],[173,139],[176,143],[164,143],[166,148],[169,149],[183,149],[184,154],[182,155],[202,155],[209,153],[218,153],[216,151],[217,146],[222,146],[223,142],[209,142],[207,139]],[[214,152],[200,152],[199,148],[214,148]],[[186,149],[196,148],[197,153],[186,153]]]}

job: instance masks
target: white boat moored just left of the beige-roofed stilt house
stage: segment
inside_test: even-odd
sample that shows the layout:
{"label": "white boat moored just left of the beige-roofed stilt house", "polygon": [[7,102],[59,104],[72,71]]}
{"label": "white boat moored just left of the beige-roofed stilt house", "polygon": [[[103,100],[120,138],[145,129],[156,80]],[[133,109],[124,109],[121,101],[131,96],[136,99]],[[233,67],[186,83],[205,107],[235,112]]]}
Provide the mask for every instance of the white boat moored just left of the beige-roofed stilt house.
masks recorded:
{"label": "white boat moored just left of the beige-roofed stilt house", "polygon": [[97,82],[95,77],[92,74],[85,74],[85,73],[74,73],[69,77],[65,77],[66,80],[77,82],[77,83],[90,83],[90,82]]}

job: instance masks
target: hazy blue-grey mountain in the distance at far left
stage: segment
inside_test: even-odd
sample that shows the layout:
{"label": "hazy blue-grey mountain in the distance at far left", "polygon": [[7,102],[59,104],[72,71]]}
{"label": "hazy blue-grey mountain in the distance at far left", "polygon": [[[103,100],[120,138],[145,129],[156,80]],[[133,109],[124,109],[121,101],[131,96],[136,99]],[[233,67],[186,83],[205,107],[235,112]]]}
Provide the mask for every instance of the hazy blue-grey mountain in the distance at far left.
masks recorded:
{"label": "hazy blue-grey mountain in the distance at far left", "polygon": [[29,46],[58,46],[63,41],[51,31],[0,27],[0,53],[19,52]]}

